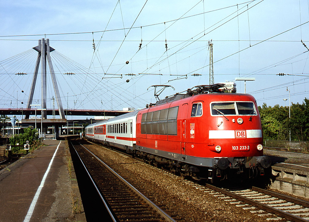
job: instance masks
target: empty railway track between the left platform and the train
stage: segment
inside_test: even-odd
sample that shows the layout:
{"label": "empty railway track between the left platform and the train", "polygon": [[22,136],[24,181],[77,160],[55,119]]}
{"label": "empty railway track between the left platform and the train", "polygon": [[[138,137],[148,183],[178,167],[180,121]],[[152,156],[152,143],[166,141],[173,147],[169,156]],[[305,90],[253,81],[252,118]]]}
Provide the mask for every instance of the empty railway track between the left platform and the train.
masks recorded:
{"label": "empty railway track between the left platform and the train", "polygon": [[71,144],[87,169],[112,221],[176,222],[86,147],[75,141]]}

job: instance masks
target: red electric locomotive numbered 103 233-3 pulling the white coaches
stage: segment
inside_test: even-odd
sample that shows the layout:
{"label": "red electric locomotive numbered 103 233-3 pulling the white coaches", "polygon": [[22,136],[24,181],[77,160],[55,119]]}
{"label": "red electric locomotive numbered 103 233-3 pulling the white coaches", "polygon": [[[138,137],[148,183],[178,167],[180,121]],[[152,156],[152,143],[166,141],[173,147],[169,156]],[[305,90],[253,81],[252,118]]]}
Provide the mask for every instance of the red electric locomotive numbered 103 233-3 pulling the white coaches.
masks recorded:
{"label": "red electric locomotive numbered 103 233-3 pulling the white coaches", "polygon": [[211,182],[242,173],[264,175],[271,161],[263,156],[256,100],[248,94],[219,93],[223,86],[197,86],[140,110],[133,116],[136,143],[126,150]]}

